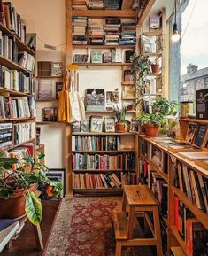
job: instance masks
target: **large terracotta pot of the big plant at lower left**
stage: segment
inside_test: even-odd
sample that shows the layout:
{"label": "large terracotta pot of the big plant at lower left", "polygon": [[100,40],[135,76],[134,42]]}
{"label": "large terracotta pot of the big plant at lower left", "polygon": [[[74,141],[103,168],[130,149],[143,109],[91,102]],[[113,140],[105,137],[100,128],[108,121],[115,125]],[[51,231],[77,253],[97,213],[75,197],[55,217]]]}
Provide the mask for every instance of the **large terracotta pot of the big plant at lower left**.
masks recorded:
{"label": "large terracotta pot of the big plant at lower left", "polygon": [[[35,191],[35,184],[31,184],[29,190]],[[0,199],[0,219],[15,219],[24,215],[27,190],[15,190],[12,198]]]}

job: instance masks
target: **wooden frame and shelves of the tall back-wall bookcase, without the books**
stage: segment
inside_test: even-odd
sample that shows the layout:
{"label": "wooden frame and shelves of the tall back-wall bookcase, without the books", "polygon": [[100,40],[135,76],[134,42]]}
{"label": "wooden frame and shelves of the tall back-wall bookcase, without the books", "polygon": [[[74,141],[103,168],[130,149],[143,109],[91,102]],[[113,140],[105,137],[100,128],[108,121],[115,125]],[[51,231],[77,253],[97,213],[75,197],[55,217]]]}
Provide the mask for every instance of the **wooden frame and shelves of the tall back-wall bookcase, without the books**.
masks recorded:
{"label": "wooden frame and shelves of the tall back-wall bookcase, without the books", "polygon": [[[82,50],[86,54],[89,53],[91,50],[111,50],[111,49],[116,49],[119,48],[124,51],[126,50],[135,50],[134,45],[90,45],[87,43],[86,45],[73,45],[72,42],[72,19],[71,17],[73,16],[78,16],[78,17],[86,17],[90,19],[109,19],[109,18],[118,18],[118,19],[135,19],[137,17],[137,13],[135,10],[132,10],[132,5],[133,1],[123,1],[123,4],[121,6],[121,10],[73,10],[72,8],[72,1],[67,1],[66,3],[66,9],[67,9],[67,63],[73,63],[73,53],[76,52],[77,50]],[[136,43],[137,45],[137,43]],[[125,63],[122,61],[121,63],[76,63],[79,66],[79,69],[96,69],[96,70],[103,70],[103,69],[111,69],[111,68],[116,68],[117,70],[120,69],[120,85],[119,85],[119,91],[120,94],[122,93],[123,89],[125,86],[134,86],[131,82],[127,84],[123,80],[123,71],[125,69],[130,69],[132,67],[131,63]],[[113,89],[112,89],[113,90]],[[125,101],[135,101],[135,97],[121,97],[121,106],[126,105],[127,102]],[[120,107],[121,107],[120,106]],[[100,111],[100,112],[86,112],[87,115],[101,115],[101,116],[111,116],[115,117],[115,113],[113,111]],[[133,118],[135,116],[135,110],[131,110],[127,112],[127,116],[129,119]],[[109,151],[109,150],[101,150],[101,151],[74,151],[72,149],[72,143],[76,138],[79,137],[94,137],[96,140],[102,139],[105,136],[112,136],[112,137],[119,137],[120,145],[121,147],[117,150]],[[105,168],[105,169],[74,169],[73,168],[73,155],[74,154],[88,154],[88,155],[109,155],[109,156],[119,156],[120,154],[127,155],[129,153],[134,153],[135,156],[135,168],[134,170],[129,170],[129,173],[134,173],[137,175],[138,170],[137,170],[137,138],[133,133],[130,132],[125,132],[125,133],[83,133],[83,132],[73,132],[73,129],[71,126],[68,126],[66,128],[66,138],[67,138],[67,149],[66,149],[66,193],[90,193],[90,194],[99,194],[99,195],[107,195],[107,194],[117,194],[117,193],[122,193],[122,188],[119,186],[119,188],[94,188],[94,189],[73,189],[73,182],[72,182],[72,177],[77,174],[85,175],[101,175],[101,174],[108,174],[112,175],[113,173],[116,173],[118,176],[124,172],[123,168]],[[73,140],[73,142],[72,142]],[[128,146],[130,144],[130,146]],[[126,172],[127,173],[127,172]],[[120,178],[120,176],[119,176]],[[135,179],[136,182],[136,179]]]}

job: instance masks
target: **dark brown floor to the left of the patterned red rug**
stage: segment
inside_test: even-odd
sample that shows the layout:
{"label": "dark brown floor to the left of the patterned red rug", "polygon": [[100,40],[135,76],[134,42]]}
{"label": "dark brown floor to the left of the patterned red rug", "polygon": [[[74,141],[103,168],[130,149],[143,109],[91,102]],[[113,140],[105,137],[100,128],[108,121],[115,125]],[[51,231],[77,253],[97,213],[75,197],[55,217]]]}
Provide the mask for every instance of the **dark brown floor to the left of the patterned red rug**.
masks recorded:
{"label": "dark brown floor to the left of the patterned red rug", "polygon": [[[50,234],[50,228],[53,223],[55,214],[58,210],[59,201],[42,200],[42,238],[45,244]],[[18,239],[13,242],[12,247],[1,253],[1,256],[41,256],[41,252],[35,250],[35,237],[33,235],[32,224],[27,221],[26,226],[20,233]]]}

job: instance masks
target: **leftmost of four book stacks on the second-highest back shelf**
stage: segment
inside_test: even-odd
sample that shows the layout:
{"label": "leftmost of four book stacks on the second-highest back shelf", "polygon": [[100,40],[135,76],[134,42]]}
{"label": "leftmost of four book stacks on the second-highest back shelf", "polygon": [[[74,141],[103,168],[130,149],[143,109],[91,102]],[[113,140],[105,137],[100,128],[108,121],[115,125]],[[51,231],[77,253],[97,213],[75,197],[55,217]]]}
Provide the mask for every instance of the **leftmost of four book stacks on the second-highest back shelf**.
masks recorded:
{"label": "leftmost of four book stacks on the second-highest back shelf", "polygon": [[87,17],[73,16],[73,44],[87,44]]}

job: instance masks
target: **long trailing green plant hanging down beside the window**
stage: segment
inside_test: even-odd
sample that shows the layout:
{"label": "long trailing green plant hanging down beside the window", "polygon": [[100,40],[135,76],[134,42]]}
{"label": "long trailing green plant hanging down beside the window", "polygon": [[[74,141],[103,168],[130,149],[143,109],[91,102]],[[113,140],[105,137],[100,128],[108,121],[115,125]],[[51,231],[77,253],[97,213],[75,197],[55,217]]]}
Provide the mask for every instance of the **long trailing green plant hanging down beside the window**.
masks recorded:
{"label": "long trailing green plant hanging down beside the window", "polygon": [[137,54],[133,55],[131,61],[133,63],[132,73],[134,74],[135,80],[135,105],[138,105],[137,110],[142,114],[142,99],[145,87],[149,83],[147,76],[150,74],[151,62],[148,56]]}

